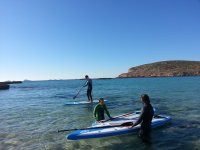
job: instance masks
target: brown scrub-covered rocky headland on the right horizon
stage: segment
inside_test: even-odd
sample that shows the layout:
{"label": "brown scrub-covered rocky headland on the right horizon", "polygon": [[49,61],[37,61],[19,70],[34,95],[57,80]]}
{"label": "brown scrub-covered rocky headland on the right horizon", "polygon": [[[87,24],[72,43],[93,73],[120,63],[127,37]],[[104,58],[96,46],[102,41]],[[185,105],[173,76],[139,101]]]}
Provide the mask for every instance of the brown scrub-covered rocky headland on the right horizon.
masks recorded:
{"label": "brown scrub-covered rocky headland on the right horizon", "polygon": [[200,61],[171,60],[144,64],[128,69],[118,78],[200,76]]}

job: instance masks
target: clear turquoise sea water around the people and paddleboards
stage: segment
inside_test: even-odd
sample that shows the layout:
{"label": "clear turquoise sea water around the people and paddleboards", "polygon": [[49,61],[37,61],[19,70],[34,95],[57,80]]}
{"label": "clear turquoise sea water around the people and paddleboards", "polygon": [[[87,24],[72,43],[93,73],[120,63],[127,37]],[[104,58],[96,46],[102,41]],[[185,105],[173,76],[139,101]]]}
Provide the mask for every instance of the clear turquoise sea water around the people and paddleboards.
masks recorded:
{"label": "clear turquoise sea water around the people and paddleboards", "polygon": [[[68,132],[94,121],[95,105],[65,106],[73,101],[84,80],[27,81],[0,91],[0,149],[200,149],[200,77],[130,78],[93,80],[93,97],[109,100],[112,116],[142,107],[140,95],[149,94],[157,113],[172,122],[153,130],[152,145],[137,134],[66,141]],[[76,101],[86,100],[86,89]]]}

